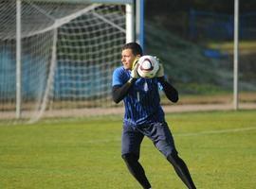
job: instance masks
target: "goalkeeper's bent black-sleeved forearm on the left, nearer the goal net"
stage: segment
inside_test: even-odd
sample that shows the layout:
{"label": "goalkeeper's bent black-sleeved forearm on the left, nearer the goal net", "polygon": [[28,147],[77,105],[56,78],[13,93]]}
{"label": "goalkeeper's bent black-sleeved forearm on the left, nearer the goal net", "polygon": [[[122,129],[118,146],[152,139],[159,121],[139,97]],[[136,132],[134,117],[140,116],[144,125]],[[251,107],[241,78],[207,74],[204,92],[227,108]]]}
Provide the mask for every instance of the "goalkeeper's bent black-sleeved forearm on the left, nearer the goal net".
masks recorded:
{"label": "goalkeeper's bent black-sleeved forearm on the left, nearer the goal net", "polygon": [[112,98],[117,104],[121,101],[126,94],[128,94],[130,88],[137,78],[131,77],[124,85],[115,85],[112,87]]}

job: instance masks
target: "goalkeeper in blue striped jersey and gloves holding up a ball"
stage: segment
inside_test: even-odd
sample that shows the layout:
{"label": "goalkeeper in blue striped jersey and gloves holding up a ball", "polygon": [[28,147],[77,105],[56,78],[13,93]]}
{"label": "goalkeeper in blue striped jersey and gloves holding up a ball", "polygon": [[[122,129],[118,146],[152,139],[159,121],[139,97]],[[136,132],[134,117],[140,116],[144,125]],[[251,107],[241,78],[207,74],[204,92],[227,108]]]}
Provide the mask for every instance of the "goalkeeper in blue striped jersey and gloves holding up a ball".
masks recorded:
{"label": "goalkeeper in blue striped jersey and gloves holding up a ball", "polygon": [[172,163],[178,177],[188,188],[195,188],[186,163],[178,156],[174,138],[165,122],[160,106],[158,84],[168,99],[178,101],[178,93],[165,79],[163,66],[160,65],[154,78],[142,78],[137,74],[137,60],[142,49],[137,43],[126,43],[122,47],[121,62],[113,73],[113,100],[124,102],[125,113],[121,139],[121,157],[129,171],[144,189],[150,189],[144,169],[138,162],[140,145],[144,136],[149,137],[155,147]]}

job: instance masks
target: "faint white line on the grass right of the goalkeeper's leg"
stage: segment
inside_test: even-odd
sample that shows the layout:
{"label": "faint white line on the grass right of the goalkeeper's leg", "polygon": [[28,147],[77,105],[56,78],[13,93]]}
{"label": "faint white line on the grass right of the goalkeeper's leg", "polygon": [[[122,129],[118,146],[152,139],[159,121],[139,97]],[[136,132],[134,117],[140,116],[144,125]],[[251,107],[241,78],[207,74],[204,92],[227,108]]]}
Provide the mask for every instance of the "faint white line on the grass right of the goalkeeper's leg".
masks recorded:
{"label": "faint white line on the grass right of the goalkeeper's leg", "polygon": [[221,134],[221,133],[229,133],[229,132],[254,130],[254,129],[256,128],[250,127],[250,128],[239,128],[239,129],[206,130],[206,131],[198,131],[198,132],[176,133],[174,134],[174,136],[198,136],[198,135],[206,135],[206,134]]}

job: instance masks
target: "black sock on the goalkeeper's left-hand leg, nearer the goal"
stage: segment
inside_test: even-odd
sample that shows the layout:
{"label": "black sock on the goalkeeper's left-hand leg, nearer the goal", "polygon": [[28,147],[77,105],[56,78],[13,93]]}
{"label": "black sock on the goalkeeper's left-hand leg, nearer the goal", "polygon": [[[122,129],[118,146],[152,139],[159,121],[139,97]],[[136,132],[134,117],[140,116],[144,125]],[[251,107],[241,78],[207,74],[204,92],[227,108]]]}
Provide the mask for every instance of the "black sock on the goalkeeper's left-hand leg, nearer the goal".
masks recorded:
{"label": "black sock on the goalkeeper's left-hand leg, nearer the goal", "polygon": [[121,156],[126,163],[130,173],[136,178],[144,189],[151,188],[150,182],[145,175],[145,171],[140,163],[138,163],[138,157],[135,154],[124,154]]}

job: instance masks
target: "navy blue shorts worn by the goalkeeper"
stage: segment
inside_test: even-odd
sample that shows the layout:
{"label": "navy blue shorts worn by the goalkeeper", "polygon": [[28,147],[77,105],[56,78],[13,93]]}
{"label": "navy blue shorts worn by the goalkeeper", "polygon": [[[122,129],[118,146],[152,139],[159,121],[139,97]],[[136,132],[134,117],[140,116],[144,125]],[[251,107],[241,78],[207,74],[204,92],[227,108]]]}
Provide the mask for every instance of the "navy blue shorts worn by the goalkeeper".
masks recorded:
{"label": "navy blue shorts worn by the goalkeeper", "polygon": [[123,125],[121,154],[134,153],[139,157],[140,145],[144,136],[150,138],[165,157],[176,152],[173,135],[167,123],[163,122],[138,127]]}

